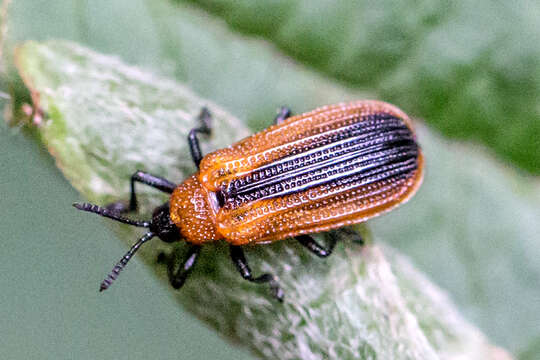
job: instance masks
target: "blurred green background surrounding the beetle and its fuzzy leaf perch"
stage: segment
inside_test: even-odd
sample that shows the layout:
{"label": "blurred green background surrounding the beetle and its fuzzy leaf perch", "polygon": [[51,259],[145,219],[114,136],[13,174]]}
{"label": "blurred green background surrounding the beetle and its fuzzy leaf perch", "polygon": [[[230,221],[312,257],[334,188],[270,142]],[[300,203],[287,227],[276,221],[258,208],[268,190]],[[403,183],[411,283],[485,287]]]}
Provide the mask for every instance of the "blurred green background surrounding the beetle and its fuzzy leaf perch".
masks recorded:
{"label": "blurred green background surrounding the beetle and its fuzzy leaf perch", "polygon": [[[455,146],[463,160],[453,159],[450,172],[465,164],[475,173],[448,183],[428,168],[431,190],[378,219],[375,232],[448,289],[491,340],[522,359],[536,358],[540,5],[254,4],[14,1],[2,91],[22,94],[10,65],[17,43],[62,38],[184,81],[255,129],[269,124],[279,105],[299,112],[352,94],[392,101],[446,136],[483,143],[499,164],[477,146]],[[288,82],[291,74],[302,83]],[[309,86],[318,92],[306,98],[299,89]],[[72,210],[78,195],[35,140],[5,124],[0,137],[5,358],[251,358],[179,312],[142,264],[130,265],[112,293],[98,294],[124,247]],[[475,163],[483,159],[487,164]],[[479,186],[488,190],[479,193]],[[411,227],[414,216],[424,225]]]}

